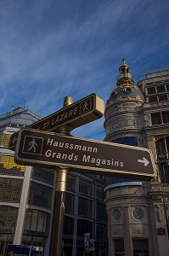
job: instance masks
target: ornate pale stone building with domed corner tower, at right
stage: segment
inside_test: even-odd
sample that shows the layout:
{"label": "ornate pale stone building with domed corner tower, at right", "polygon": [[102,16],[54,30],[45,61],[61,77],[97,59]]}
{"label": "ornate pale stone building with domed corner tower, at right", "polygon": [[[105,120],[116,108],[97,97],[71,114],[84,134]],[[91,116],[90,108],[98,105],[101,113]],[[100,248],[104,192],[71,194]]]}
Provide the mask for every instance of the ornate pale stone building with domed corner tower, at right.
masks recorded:
{"label": "ornate pale stone building with domed corner tower, at right", "polygon": [[[105,177],[109,255],[166,256],[169,251],[169,70],[150,71],[134,85],[123,60],[106,103],[105,141],[149,148],[151,182]],[[132,159],[131,159],[132,161]]]}

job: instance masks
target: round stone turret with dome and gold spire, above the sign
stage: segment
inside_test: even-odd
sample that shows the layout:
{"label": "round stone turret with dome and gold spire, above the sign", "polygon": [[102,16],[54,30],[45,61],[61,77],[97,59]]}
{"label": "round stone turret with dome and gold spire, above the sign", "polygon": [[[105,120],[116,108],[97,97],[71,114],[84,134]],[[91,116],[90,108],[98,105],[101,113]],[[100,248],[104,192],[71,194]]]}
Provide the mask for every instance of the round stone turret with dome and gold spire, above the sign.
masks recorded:
{"label": "round stone turret with dome and gold spire, above the sign", "polygon": [[[104,140],[112,142],[119,137],[140,137],[141,111],[144,95],[134,85],[127,63],[122,60],[116,88],[111,91],[105,106]],[[133,143],[132,143],[133,145]]]}

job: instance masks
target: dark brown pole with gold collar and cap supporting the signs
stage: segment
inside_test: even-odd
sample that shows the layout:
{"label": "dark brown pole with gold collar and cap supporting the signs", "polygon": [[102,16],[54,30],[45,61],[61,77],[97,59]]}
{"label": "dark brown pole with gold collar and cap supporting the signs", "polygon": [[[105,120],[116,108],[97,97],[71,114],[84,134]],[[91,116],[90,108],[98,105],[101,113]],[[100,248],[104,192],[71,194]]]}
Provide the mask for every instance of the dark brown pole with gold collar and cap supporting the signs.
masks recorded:
{"label": "dark brown pole with gold collar and cap supporting the signs", "polygon": [[[72,103],[70,96],[65,97],[64,107]],[[65,125],[60,129],[63,135],[70,135],[70,127]],[[61,256],[62,253],[62,236],[64,227],[64,213],[65,213],[65,190],[66,190],[66,177],[68,168],[57,168],[57,179],[55,185],[55,198],[54,198],[54,217],[53,217],[53,230],[50,246],[50,256]]]}

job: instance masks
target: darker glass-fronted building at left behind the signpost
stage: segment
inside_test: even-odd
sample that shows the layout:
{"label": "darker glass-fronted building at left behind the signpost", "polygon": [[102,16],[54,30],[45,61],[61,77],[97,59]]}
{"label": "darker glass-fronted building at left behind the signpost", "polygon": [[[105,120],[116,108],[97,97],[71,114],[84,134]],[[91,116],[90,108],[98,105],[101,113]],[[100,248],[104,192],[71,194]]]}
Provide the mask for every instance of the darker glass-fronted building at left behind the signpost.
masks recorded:
{"label": "darker glass-fronted building at left behind the signpost", "polygon": [[[48,256],[54,209],[56,172],[20,166],[9,137],[41,117],[30,108],[16,108],[0,116],[0,254],[8,244],[42,247]],[[95,241],[95,255],[107,255],[107,215],[103,177],[69,172],[65,193],[64,252],[83,255],[84,234]],[[92,254],[92,253],[91,253]]]}

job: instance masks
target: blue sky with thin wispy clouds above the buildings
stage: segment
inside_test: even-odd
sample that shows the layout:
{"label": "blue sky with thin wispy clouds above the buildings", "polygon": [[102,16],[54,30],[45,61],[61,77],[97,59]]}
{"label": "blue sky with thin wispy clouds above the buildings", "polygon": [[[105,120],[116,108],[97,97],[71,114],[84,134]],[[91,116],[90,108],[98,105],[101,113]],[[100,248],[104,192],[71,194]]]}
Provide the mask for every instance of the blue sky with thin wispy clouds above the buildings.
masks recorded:
{"label": "blue sky with thin wispy clouds above the buildings", "polygon": [[[168,0],[0,0],[0,113],[44,117],[93,92],[106,102],[122,58],[135,81],[169,67]],[[103,139],[103,123],[73,134]]]}

